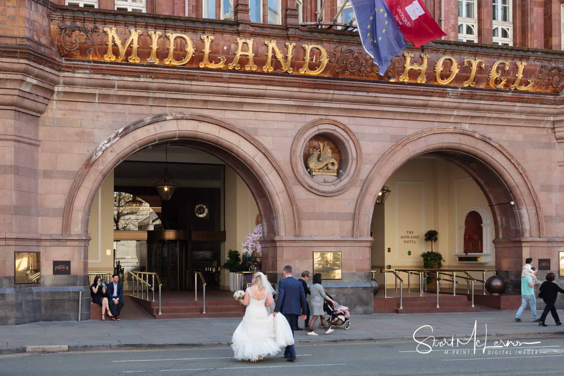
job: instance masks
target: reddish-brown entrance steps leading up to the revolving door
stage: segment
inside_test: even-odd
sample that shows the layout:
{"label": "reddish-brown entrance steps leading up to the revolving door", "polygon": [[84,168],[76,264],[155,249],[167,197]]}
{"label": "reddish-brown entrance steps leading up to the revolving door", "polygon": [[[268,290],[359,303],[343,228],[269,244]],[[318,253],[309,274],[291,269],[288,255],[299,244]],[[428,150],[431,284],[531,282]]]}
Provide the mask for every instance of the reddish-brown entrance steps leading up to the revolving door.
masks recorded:
{"label": "reddish-brown entrance steps leading up to the revolving door", "polygon": [[161,315],[158,314],[158,301],[148,302],[131,297],[155,319],[192,319],[196,317],[243,317],[245,306],[233,300],[206,300],[206,313],[202,300],[161,301]]}

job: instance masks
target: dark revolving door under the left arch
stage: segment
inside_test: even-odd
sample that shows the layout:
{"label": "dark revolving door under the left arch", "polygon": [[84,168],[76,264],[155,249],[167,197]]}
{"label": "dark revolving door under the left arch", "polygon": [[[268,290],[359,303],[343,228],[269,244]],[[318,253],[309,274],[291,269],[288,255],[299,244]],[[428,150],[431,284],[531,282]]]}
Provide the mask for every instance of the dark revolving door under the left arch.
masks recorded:
{"label": "dark revolving door under the left arch", "polygon": [[158,273],[163,290],[186,289],[186,254],[190,233],[182,230],[147,231],[147,271]]}

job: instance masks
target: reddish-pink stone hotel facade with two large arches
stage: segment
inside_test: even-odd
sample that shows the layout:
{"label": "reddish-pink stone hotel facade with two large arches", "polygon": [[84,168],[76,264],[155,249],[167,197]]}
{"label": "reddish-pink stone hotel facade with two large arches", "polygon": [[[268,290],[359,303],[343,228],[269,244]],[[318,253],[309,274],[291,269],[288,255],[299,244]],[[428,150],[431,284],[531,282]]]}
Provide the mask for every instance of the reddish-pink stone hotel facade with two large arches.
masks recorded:
{"label": "reddish-pink stone hotel facade with two large arches", "polygon": [[456,256],[469,210],[506,293],[527,257],[559,275],[564,5],[425,4],[447,36],[381,72],[341,0],[0,0],[0,323],[89,316],[92,202],[164,145],[243,180],[263,271],[340,252],[325,283],[353,313],[373,312],[371,270],[422,267],[430,228],[444,266],[477,268]]}

